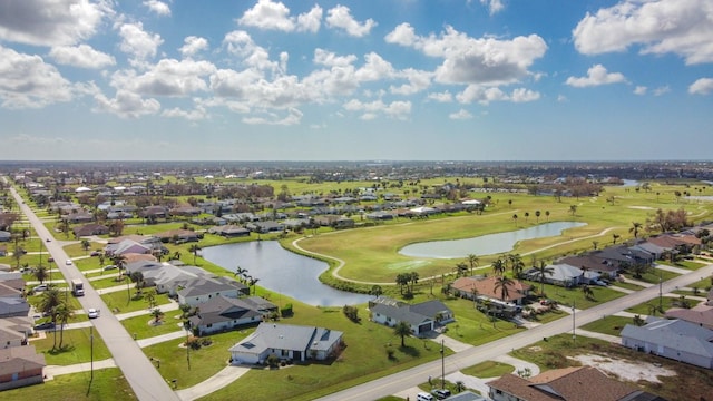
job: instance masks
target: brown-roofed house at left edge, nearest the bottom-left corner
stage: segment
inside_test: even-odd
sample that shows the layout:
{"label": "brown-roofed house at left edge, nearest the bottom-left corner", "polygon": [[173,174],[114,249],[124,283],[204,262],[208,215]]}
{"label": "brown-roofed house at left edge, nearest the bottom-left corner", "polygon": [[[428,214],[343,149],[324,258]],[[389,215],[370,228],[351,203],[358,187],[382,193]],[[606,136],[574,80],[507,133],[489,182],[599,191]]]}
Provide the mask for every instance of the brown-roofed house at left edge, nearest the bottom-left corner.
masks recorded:
{"label": "brown-roofed house at left edge, nearest the bottom-left corner", "polygon": [[0,391],[42,383],[46,365],[35,345],[0,349]]}

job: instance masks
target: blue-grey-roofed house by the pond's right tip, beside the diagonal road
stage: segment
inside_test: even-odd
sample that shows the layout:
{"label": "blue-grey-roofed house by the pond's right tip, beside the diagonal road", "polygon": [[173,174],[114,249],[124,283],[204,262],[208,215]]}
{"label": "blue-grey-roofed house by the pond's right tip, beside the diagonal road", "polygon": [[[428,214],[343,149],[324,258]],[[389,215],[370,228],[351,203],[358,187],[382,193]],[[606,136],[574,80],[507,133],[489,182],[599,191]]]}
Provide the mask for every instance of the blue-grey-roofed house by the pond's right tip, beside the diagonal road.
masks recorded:
{"label": "blue-grey-roofed house by the pond's right tip, beside the diagonal road", "polygon": [[453,312],[440,301],[427,301],[409,305],[403,303],[384,302],[370,303],[370,314],[373,322],[393,327],[399,322],[406,322],[411,332],[421,336],[431,332],[439,324],[453,321]]}

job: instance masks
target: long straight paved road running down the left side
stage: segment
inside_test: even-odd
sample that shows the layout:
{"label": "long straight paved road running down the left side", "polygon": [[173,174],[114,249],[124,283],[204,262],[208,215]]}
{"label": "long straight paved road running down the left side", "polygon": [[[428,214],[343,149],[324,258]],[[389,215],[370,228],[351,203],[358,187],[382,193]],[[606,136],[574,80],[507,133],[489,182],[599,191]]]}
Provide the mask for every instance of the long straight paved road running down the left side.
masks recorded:
{"label": "long straight paved road running down the left side", "polygon": [[[53,239],[51,233],[30,207],[22,202],[22,198],[13,187],[10,188],[10,192],[40,238],[50,238],[50,242],[46,242],[45,245],[52,257],[55,257],[57,267],[65,275],[67,282],[79,278],[85,283],[85,296],[77,299],[81,306],[85,310],[98,307],[102,311],[109,311],[99,294],[89,285],[89,281],[81,274],[77,266],[74,264],[65,264],[69,257],[61,247],[61,244]],[[146,358],[131,335],[126,332],[116,316],[106,313],[91,322],[101,335],[109,352],[111,352],[116,365],[121,370],[121,373],[124,373],[124,376],[139,400],[178,400],[176,393],[156,371],[152,362]]]}

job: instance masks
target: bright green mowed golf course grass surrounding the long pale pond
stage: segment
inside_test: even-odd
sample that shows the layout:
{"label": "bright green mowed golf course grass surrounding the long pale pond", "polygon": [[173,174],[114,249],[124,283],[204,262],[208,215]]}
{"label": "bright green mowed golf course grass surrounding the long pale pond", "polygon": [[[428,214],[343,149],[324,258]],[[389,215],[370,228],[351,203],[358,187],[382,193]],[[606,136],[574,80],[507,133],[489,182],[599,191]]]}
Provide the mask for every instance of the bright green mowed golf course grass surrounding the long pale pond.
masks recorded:
{"label": "bright green mowed golf course grass surrounding the long pale pond", "polygon": [[[710,216],[712,204],[691,205],[675,203],[673,188],[658,188],[660,196],[651,193],[626,192],[624,188],[606,187],[599,197],[563,198],[557,202],[553,197],[524,194],[494,194],[492,206],[482,215],[460,213],[450,217],[430,219],[398,218],[392,224],[382,224],[368,228],[334,231],[311,235],[297,242],[297,246],[322,255],[332,267],[345,262],[339,275],[348,280],[365,283],[393,283],[397,274],[416,271],[421,277],[451,273],[462,258],[437,260],[417,258],[400,255],[403,246],[442,239],[460,239],[486,234],[501,233],[527,228],[537,224],[558,221],[576,221],[587,223],[584,227],[565,231],[559,236],[522,241],[515,245],[511,253],[524,256],[526,264],[530,258],[551,261],[556,256],[602,248],[614,243],[614,234],[618,243],[633,238],[629,232],[634,222],[644,223],[651,218],[656,208],[678,209],[695,208],[692,222]],[[473,197],[485,194],[475,194]],[[614,197],[612,204],[607,197]],[[510,204],[509,200],[512,200]],[[575,212],[572,212],[575,206]],[[540,217],[536,218],[536,211]],[[529,217],[525,218],[525,213]],[[549,216],[545,217],[545,212]],[[518,215],[514,219],[514,215]],[[292,238],[283,241],[283,246],[291,248]],[[480,258],[480,265],[488,265],[500,255],[481,255],[477,250],[472,253]],[[649,277],[645,277],[649,278]],[[656,278],[657,280],[657,278]]]}

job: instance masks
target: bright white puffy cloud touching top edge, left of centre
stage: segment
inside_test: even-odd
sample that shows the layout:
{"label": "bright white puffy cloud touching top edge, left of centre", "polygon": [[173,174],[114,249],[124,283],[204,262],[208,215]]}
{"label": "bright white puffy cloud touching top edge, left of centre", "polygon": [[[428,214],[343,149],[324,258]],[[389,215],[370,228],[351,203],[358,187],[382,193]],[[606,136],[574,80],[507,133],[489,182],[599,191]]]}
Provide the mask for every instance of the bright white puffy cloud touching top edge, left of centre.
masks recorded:
{"label": "bright white puffy cloud touching top edge, left of centre", "polygon": [[246,10],[237,22],[267,30],[316,32],[320,29],[322,12],[322,8],[315,4],[309,12],[295,18],[290,16],[290,9],[285,4],[272,0],[260,0],[253,8]]}

